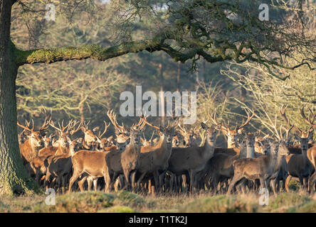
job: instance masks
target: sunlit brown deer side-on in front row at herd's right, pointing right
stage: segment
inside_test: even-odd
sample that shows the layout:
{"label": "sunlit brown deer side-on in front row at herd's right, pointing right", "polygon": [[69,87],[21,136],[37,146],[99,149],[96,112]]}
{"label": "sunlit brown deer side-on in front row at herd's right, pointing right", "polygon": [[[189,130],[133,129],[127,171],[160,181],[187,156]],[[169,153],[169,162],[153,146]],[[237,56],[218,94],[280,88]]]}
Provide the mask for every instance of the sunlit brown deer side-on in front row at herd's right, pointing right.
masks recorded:
{"label": "sunlit brown deer side-on in front row at herd's right, pointing right", "polygon": [[[249,180],[260,180],[260,187],[267,188],[268,180],[277,177],[282,165],[282,156],[288,155],[284,141],[273,142],[270,144],[270,153],[256,158],[240,158],[233,161],[233,179],[229,184],[227,194],[243,177]],[[275,194],[276,195],[276,194]]]}

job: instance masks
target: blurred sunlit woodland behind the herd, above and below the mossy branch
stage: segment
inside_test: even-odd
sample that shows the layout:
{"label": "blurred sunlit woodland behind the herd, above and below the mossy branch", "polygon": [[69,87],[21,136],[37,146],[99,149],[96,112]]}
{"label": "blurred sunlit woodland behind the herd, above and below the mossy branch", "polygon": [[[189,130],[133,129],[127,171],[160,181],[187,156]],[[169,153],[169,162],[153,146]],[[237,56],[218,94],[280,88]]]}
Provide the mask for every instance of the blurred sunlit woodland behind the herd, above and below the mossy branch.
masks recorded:
{"label": "blurred sunlit woodland behind the herd, above and below the mossy branch", "polygon": [[[109,46],[122,40],[142,39],[148,31],[159,31],[168,26],[168,21],[179,19],[164,16],[168,2],[148,1],[147,6],[155,9],[153,15],[150,7],[146,8],[144,4],[139,5],[139,9],[131,6],[130,11],[122,11],[123,6],[127,9],[125,1],[99,1],[98,4],[93,1],[30,1],[23,4],[20,1],[12,12],[11,38],[21,50],[89,43]],[[278,13],[288,15],[287,9],[280,7],[283,4],[273,2],[276,7],[273,9],[275,13],[270,12],[271,18]],[[48,3],[56,5],[56,21],[45,20],[43,12]],[[299,1],[288,2],[288,7],[302,7],[309,13],[306,29],[310,34],[316,31],[315,5],[315,0],[303,1],[302,6]],[[76,10],[69,13],[69,9]],[[295,57],[298,62],[302,60],[300,52]],[[282,78],[290,77],[283,81],[275,78],[273,73]],[[200,122],[208,119],[208,114],[215,110],[218,121],[236,123],[243,120],[244,109],[254,109],[256,118],[248,129],[260,128],[263,133],[274,135],[273,126],[285,125],[280,118],[280,106],[288,105],[288,116],[299,126],[305,126],[299,115],[302,105],[314,111],[316,107],[315,71],[310,71],[307,66],[294,71],[272,68],[272,72],[268,72],[255,62],[231,60],[209,64],[205,60],[193,59],[179,64],[164,52],[127,54],[105,62],[89,59],[53,65],[23,65],[19,68],[16,84],[18,118],[36,120],[44,107],[53,112],[56,121],[76,118],[91,121],[91,126],[101,126],[103,120],[108,121],[108,109],[118,113],[123,102],[119,99],[120,93],[135,93],[136,85],[142,85],[142,92],[157,94],[159,91],[196,91],[198,121],[194,126],[200,126]],[[119,114],[118,120],[130,121],[120,118]],[[158,118],[150,120],[159,124]],[[130,125],[130,122],[124,123]],[[224,144],[225,138],[221,135],[218,145]]]}

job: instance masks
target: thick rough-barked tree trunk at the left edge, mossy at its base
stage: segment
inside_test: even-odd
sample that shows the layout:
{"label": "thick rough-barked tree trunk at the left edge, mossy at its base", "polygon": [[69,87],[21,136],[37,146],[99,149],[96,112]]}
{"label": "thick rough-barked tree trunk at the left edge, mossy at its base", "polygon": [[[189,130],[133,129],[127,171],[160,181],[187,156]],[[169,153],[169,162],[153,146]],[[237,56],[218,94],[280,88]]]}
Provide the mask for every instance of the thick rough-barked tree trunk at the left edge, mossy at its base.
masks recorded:
{"label": "thick rough-barked tree trunk at the left edge, mossy at its base", "polygon": [[32,194],[38,188],[23,167],[16,126],[14,45],[10,40],[11,1],[0,1],[0,195]]}

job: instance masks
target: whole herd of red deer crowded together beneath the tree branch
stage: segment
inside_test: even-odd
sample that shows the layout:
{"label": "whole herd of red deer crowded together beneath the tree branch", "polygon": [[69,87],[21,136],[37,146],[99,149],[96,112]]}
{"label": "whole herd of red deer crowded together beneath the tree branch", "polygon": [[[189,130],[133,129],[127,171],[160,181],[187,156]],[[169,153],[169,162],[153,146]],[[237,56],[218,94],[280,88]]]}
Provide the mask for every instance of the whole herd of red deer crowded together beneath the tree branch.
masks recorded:
{"label": "whole herd of red deer crowded together beneath the tree branch", "polygon": [[[170,118],[167,126],[155,126],[142,115],[130,127],[117,123],[116,114],[107,111],[115,128],[115,135],[105,136],[110,123],[89,128],[89,123],[70,120],[67,124],[54,123],[51,114],[36,131],[34,122],[18,126],[20,153],[23,165],[38,184],[55,188],[59,193],[94,188],[111,192],[126,189],[137,193],[198,193],[201,190],[216,193],[257,192],[270,189],[275,195],[289,191],[290,179],[298,179],[307,192],[315,191],[316,144],[313,132],[316,114],[300,115],[308,124],[304,131],[290,123],[280,108],[288,128],[277,128],[278,138],[262,137],[259,132],[245,131],[255,116],[246,111],[247,118],[240,126],[231,128],[218,122],[216,112],[209,114],[210,126],[201,122],[201,128],[181,126],[179,118]],[[149,126],[149,127],[146,127]],[[48,128],[56,133],[48,135]],[[151,138],[144,136],[145,129]],[[299,145],[290,144],[290,131],[295,130]],[[83,138],[75,137],[78,132]],[[204,142],[199,137],[204,131]],[[216,146],[216,136],[227,137],[227,148]],[[159,137],[154,138],[154,133]],[[85,184],[85,182],[87,184]]]}

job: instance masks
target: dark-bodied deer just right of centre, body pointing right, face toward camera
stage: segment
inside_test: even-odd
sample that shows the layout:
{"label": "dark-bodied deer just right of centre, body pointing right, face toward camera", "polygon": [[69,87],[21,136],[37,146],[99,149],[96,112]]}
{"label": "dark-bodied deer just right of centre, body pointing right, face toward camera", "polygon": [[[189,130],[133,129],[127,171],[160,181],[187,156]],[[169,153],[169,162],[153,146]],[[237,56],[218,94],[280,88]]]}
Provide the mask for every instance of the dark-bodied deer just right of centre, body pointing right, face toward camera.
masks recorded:
{"label": "dark-bodied deer just right of centre, body pointing right, face toward camera", "polygon": [[177,176],[189,173],[190,192],[196,187],[196,174],[204,170],[206,163],[214,155],[214,141],[218,130],[221,129],[221,125],[213,128],[205,123],[201,123],[201,127],[206,131],[204,145],[196,148],[172,148],[169,158],[169,172]]}

